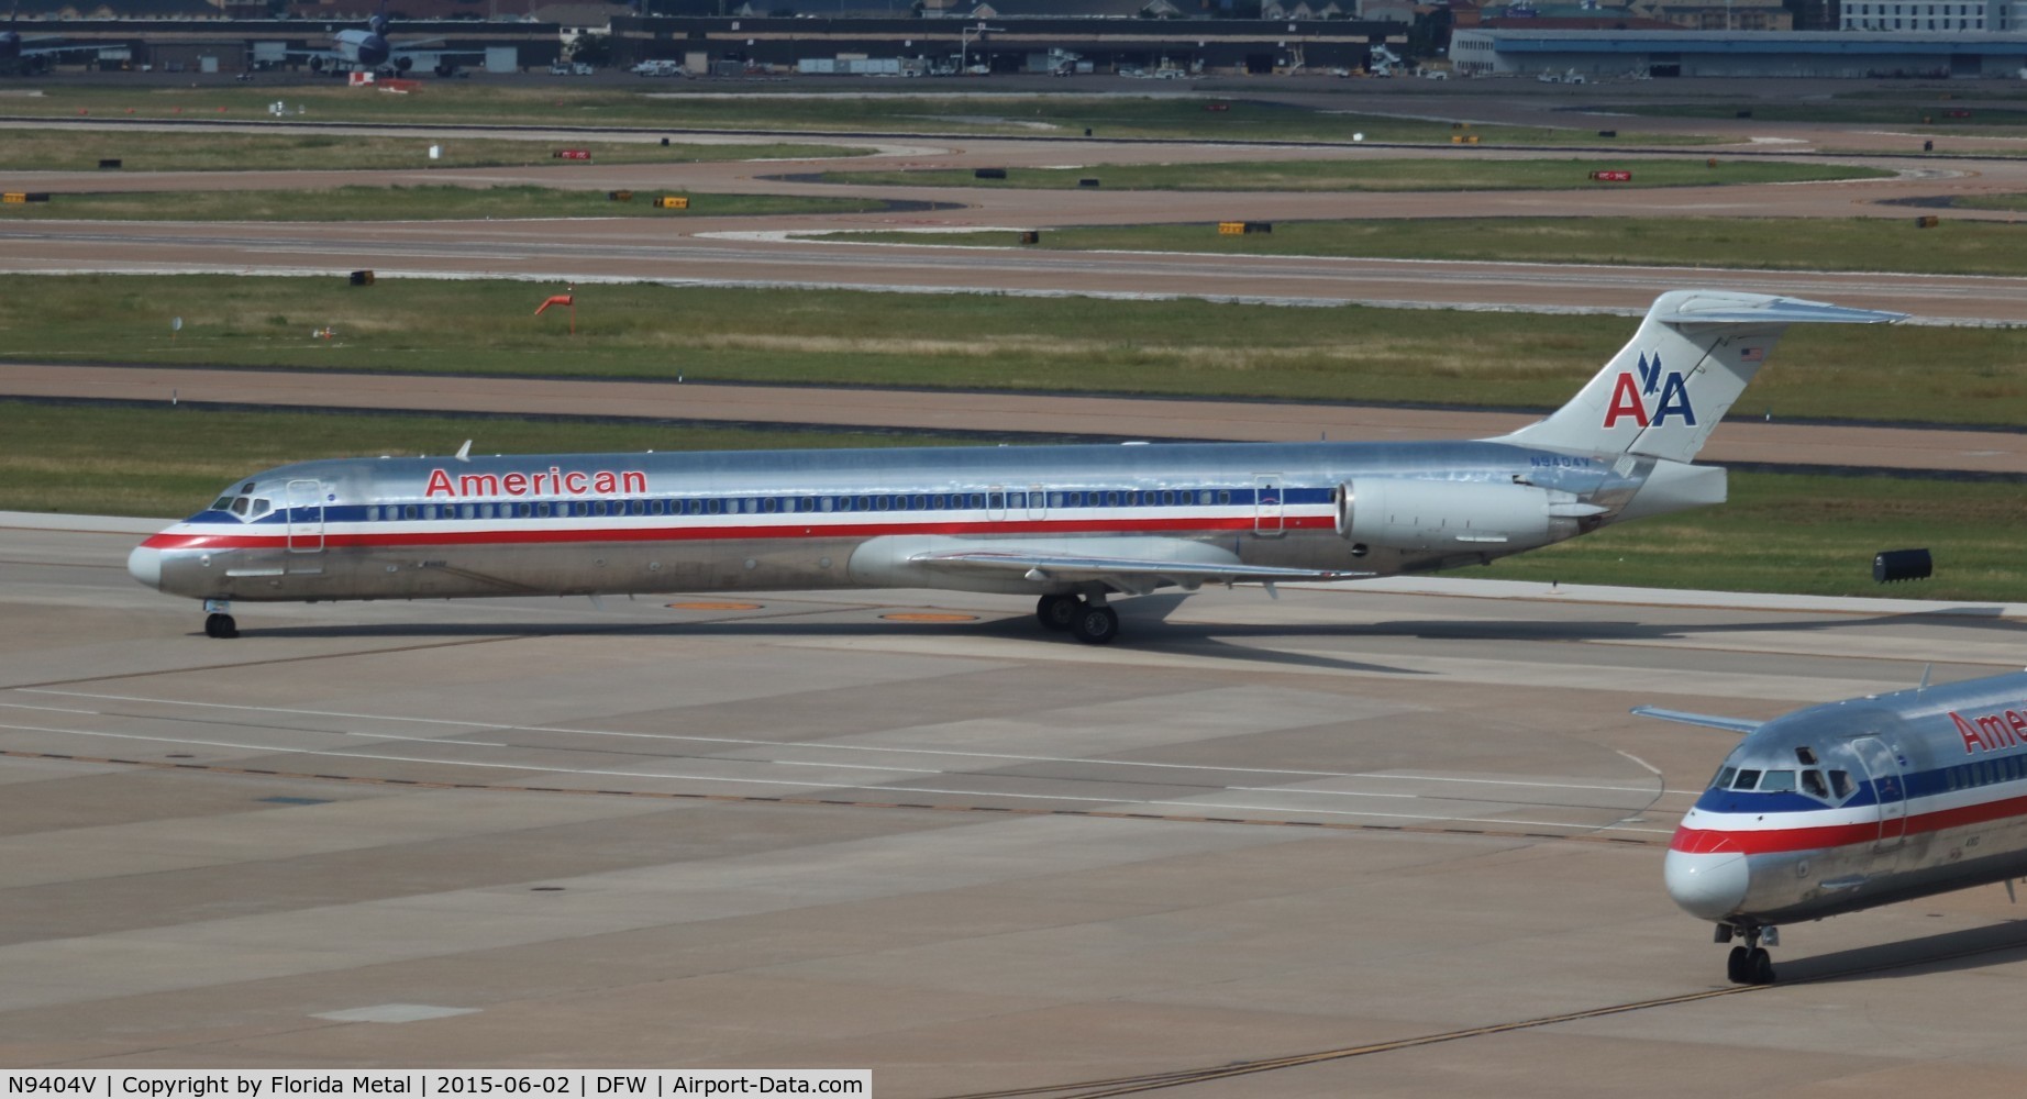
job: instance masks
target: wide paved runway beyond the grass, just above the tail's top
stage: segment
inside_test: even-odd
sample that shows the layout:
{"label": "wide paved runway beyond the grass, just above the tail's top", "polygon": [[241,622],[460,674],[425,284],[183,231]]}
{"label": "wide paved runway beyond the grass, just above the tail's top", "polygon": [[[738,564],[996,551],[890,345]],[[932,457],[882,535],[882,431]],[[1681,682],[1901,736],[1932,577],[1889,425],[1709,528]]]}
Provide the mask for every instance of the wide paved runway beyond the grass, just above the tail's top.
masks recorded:
{"label": "wide paved runway beyond the grass, just above the tail's top", "polygon": [[525,278],[578,284],[655,280],[695,286],[1170,296],[1626,314],[1642,312],[1664,290],[1707,286],[1901,310],[1913,314],[1918,322],[2027,320],[2027,278],[1995,276],[995,251],[722,239],[691,235],[671,225],[643,227],[630,221],[432,221],[343,229],[176,223],[0,227],[0,272],[336,276],[359,268],[393,278]]}

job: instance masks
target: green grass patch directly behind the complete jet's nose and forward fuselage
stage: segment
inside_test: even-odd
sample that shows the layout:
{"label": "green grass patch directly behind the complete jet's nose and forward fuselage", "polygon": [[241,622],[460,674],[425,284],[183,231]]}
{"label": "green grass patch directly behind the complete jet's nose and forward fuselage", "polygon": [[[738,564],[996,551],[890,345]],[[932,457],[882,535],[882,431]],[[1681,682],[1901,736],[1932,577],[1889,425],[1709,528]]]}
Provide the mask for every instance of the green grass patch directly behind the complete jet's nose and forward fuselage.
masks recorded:
{"label": "green grass patch directly behind the complete jet's nose and forward fuselage", "polygon": [[491,416],[349,416],[0,399],[0,511],[191,515],[235,477],[308,458],[947,446],[904,432],[754,432]]}

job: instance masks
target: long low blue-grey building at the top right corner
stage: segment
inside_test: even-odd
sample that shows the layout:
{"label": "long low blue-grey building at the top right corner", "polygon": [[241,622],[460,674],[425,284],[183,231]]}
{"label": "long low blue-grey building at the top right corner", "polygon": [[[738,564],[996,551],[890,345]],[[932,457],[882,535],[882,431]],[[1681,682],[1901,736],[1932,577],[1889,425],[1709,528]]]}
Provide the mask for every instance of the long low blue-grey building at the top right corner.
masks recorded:
{"label": "long low blue-grey building at the top right corner", "polygon": [[2009,77],[2027,32],[1510,30],[1457,28],[1459,75],[1611,77]]}

